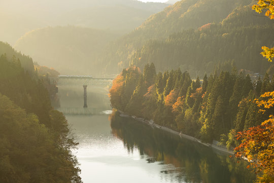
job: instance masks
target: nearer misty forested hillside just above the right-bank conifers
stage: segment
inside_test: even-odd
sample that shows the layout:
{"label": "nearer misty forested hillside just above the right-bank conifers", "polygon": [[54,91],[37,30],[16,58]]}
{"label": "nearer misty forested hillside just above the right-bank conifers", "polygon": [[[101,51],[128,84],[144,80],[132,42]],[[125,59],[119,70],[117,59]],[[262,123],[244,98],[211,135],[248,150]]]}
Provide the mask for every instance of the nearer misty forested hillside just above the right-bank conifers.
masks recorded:
{"label": "nearer misty forested hillside just above the right-bank conifers", "polygon": [[218,64],[229,67],[231,62],[237,69],[264,73],[270,63],[260,55],[261,47],[272,46],[274,25],[251,15],[250,7],[237,8],[221,23],[182,31],[165,41],[150,41],[131,56],[131,64],[144,68],[154,62],[160,71],[180,67],[192,77],[213,73]]}

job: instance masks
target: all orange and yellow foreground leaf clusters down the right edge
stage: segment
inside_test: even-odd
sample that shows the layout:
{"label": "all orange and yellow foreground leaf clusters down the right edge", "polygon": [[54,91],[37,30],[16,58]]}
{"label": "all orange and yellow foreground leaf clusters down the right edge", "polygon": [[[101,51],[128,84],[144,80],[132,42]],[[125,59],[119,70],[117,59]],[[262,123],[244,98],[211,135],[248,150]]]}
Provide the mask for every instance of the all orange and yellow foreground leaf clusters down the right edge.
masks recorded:
{"label": "all orange and yellow foreground leaf clusters down the right edge", "polygon": [[[259,0],[252,9],[258,13],[266,10],[265,16],[274,19],[273,0]],[[271,62],[274,57],[274,47],[263,46],[262,49],[261,55]],[[272,92],[266,92],[259,99],[254,100],[259,107],[258,112],[268,115],[269,118],[256,127],[238,132],[236,136],[237,140],[242,142],[235,148],[236,157],[247,157],[257,173],[262,172],[257,176],[257,182],[274,182],[274,88],[271,90]]]}

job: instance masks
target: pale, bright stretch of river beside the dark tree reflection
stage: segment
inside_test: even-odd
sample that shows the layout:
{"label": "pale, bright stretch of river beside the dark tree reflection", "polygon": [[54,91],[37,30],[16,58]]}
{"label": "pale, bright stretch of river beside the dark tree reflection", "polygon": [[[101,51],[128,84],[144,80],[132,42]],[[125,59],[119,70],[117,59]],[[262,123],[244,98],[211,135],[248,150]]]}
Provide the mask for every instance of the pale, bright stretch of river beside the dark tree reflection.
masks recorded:
{"label": "pale, bright stretch of river beside the dark tree reflection", "polygon": [[[173,165],[163,162],[147,163],[153,160],[148,155],[140,155],[139,149],[128,150],[123,141],[112,134],[108,115],[66,116],[73,125],[79,142],[75,154],[81,163],[81,177],[89,182],[177,182],[174,176],[160,173]],[[162,164],[161,164],[162,163]]]}

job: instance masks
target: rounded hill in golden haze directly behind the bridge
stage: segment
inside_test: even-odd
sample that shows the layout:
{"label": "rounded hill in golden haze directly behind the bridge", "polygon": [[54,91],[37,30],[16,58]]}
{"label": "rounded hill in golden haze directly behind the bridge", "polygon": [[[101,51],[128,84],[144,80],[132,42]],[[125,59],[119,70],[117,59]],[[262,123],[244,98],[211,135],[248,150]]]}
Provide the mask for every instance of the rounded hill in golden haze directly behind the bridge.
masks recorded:
{"label": "rounded hill in golden haze directly behind the bridge", "polygon": [[15,49],[31,55],[41,66],[53,67],[61,74],[96,75],[95,57],[117,34],[92,28],[57,26],[25,34]]}

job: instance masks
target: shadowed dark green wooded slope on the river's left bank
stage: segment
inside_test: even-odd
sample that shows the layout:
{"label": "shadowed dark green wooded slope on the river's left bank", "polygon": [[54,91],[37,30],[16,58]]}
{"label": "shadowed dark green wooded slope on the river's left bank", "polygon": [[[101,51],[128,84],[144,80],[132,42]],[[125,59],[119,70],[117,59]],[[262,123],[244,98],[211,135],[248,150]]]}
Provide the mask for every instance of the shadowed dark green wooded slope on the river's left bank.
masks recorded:
{"label": "shadowed dark green wooded slope on the river's left bank", "polygon": [[0,182],[82,182],[71,151],[77,143],[63,114],[51,107],[47,78],[31,58],[0,45]]}

